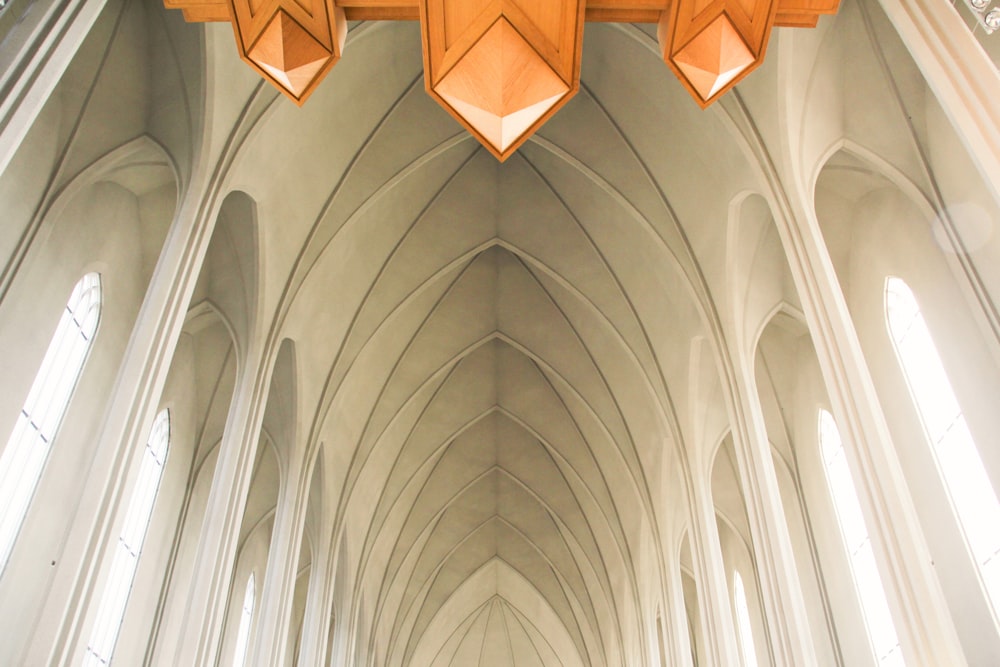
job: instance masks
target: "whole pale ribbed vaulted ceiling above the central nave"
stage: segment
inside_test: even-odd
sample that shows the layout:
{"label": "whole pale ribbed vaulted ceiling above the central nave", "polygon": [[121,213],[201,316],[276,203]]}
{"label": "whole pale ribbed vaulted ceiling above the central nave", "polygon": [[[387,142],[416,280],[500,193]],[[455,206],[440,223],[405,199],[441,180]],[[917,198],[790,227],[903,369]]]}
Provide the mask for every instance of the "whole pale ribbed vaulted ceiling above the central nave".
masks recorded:
{"label": "whole pale ribbed vaulted ceiling above the central nave", "polygon": [[[836,21],[779,31],[708,111],[655,26],[588,26],[580,93],[503,164],[425,94],[416,24],[352,26],[303,108],[207,28],[228,91],[209,121],[246,123],[225,178],[259,236],[245,339],[294,342],[310,539],[336,551],[336,613],[374,664],[649,664],[729,355],[798,303],[748,137],[796,182],[851,126],[839,89],[885,87],[844,76],[873,61],[871,19]],[[900,132],[875,122],[848,131]]]}

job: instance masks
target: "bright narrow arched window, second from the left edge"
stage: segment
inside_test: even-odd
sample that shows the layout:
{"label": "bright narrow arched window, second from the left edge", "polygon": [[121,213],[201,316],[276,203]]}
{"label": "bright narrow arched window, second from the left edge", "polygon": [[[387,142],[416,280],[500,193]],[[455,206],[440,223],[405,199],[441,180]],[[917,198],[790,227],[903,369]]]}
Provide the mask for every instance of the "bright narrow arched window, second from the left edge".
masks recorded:
{"label": "bright narrow arched window, second from the left edge", "polygon": [[104,584],[104,593],[97,608],[97,620],[84,652],[85,667],[99,667],[111,662],[118,641],[118,631],[125,618],[125,605],[132,592],[132,582],[139,565],[142,543],[153,514],[153,502],[163,477],[163,463],[170,446],[170,416],[163,410],[153,421],[139,466],[139,479],[132,491],[118,544],[115,547],[111,571]]}

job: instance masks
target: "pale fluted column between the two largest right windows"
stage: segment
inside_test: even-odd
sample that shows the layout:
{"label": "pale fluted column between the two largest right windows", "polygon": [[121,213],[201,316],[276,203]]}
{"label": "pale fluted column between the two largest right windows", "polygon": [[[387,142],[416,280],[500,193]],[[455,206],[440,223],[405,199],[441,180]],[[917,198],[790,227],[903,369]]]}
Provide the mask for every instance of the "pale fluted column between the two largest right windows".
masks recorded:
{"label": "pale fluted column between the two largest right windows", "polygon": [[744,149],[760,165],[762,185],[855,474],[907,664],[966,664],[847,302],[823,242],[812,206],[811,184],[795,183],[789,190],[742,102],[729,96],[721,108],[733,124],[734,136],[742,136]]}

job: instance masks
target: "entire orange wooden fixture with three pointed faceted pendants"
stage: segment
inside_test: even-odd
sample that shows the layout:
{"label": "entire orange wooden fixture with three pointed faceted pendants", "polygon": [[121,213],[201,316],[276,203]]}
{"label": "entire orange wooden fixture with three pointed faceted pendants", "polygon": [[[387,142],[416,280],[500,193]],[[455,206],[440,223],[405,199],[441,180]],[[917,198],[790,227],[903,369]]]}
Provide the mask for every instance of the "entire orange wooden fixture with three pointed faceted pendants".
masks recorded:
{"label": "entire orange wooden fixture with three pointed faceted pendants", "polygon": [[340,59],[347,21],[421,23],[427,92],[503,161],[580,87],[584,21],[657,23],[707,107],[764,59],[771,28],[814,27],[840,0],[163,0],[230,21],[243,58],[296,104]]}

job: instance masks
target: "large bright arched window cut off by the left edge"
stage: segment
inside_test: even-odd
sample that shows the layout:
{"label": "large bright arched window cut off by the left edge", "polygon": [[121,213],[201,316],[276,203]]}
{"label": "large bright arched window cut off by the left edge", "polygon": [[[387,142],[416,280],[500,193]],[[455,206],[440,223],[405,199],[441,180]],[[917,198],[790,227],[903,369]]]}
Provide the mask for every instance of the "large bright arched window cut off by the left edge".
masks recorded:
{"label": "large bright arched window cut off by the left edge", "polygon": [[0,568],[6,568],[31,497],[42,476],[101,314],[101,277],[88,273],[73,288],[42,365],[0,455]]}

